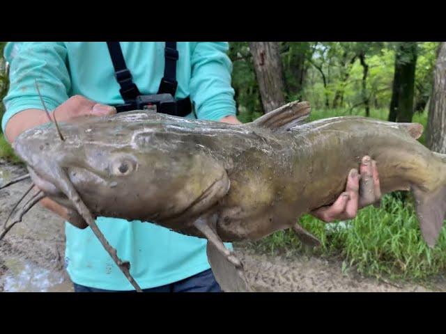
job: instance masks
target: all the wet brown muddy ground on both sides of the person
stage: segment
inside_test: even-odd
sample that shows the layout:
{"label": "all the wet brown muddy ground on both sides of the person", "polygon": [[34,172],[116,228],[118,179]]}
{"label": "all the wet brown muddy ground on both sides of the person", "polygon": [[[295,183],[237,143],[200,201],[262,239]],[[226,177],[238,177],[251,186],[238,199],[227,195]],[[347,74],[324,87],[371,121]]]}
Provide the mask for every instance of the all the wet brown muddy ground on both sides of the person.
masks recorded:
{"label": "all the wet brown muddy ground on both sides of the person", "polygon": [[[26,170],[0,159],[0,184]],[[30,182],[0,190],[0,224]],[[63,221],[43,207],[33,207],[0,241],[0,292],[72,292],[64,269]],[[247,278],[259,292],[430,292],[445,291],[420,285],[394,285],[355,273],[342,273],[341,263],[316,257],[292,258],[256,253],[240,244],[236,253],[245,264]]]}

